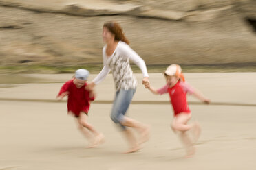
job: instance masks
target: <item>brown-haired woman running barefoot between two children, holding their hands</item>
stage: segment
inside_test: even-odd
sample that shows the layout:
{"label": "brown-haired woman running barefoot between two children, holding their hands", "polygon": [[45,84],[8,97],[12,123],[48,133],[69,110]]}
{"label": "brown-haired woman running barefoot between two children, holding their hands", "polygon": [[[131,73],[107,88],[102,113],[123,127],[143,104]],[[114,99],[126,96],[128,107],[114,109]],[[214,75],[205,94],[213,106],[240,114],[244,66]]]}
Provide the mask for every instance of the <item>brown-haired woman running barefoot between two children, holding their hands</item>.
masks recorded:
{"label": "brown-haired woman running barefoot between two children, holding their hands", "polygon": [[[103,69],[88,84],[87,88],[92,90],[96,84],[104,80],[110,71],[112,72],[116,87],[116,97],[111,110],[111,119],[122,127],[123,133],[130,145],[126,153],[131,153],[138,151],[140,144],[148,140],[149,127],[125,116],[137,85],[137,80],[131,71],[129,60],[141,69],[144,75],[142,84],[149,83],[147,67],[142,58],[129,47],[129,41],[118,23],[111,21],[103,25],[103,41],[106,43],[103,47]],[[127,127],[137,130],[140,134],[140,139],[136,140],[134,134]]]}

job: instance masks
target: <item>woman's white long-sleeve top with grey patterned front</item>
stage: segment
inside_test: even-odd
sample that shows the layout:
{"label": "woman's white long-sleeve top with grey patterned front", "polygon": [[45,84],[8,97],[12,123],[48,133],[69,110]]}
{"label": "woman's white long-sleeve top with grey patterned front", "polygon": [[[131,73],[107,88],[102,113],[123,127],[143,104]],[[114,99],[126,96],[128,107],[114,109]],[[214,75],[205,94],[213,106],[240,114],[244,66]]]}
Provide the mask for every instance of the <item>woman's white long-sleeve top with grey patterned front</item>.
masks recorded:
{"label": "woman's white long-sleeve top with grey patterned front", "polygon": [[142,60],[142,58],[140,58],[140,56],[138,56],[138,54],[125,42],[119,41],[111,56],[107,56],[106,47],[106,45],[103,47],[103,69],[94,78],[94,84],[103,81],[111,71],[116,90],[120,90],[121,88],[124,88],[125,90],[136,88],[137,80],[133,75],[129,60],[134,62],[140,68],[144,77],[149,77],[144,60]]}

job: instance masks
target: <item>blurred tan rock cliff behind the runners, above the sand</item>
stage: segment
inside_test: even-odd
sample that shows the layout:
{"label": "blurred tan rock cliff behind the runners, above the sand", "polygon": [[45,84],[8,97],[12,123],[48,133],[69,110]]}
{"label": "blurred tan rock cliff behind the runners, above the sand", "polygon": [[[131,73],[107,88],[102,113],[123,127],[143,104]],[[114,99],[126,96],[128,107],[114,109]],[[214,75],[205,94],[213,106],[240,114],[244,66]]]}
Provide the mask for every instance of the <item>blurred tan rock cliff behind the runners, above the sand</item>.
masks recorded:
{"label": "blurred tan rock cliff behind the runners, above the sand", "polygon": [[256,71],[255,9],[255,0],[0,0],[0,73],[98,73],[109,20],[150,72]]}

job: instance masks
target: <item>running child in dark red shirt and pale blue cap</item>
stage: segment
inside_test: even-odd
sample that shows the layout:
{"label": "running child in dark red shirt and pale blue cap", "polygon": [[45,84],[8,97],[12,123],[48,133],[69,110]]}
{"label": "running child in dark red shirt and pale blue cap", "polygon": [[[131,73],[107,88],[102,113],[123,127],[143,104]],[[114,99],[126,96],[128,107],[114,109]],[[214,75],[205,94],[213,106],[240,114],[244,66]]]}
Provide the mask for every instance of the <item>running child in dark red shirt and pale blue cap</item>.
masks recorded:
{"label": "running child in dark red shirt and pale blue cap", "polygon": [[66,95],[68,96],[67,112],[76,117],[79,130],[91,142],[88,147],[96,147],[103,142],[104,136],[87,123],[90,102],[94,101],[94,92],[85,90],[88,76],[89,71],[85,69],[76,70],[74,79],[63,84],[57,98],[63,99]]}

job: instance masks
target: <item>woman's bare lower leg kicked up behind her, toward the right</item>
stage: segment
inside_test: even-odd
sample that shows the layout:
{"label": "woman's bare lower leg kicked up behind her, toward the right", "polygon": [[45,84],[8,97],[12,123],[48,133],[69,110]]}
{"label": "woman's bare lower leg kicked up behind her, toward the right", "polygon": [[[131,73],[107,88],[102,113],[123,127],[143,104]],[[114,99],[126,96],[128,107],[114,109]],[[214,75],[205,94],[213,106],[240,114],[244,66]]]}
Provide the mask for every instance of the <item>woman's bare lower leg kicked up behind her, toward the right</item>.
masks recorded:
{"label": "woman's bare lower leg kicked up behind her, toward the right", "polygon": [[145,143],[149,140],[149,125],[145,125],[129,117],[123,117],[122,125],[133,127],[134,129],[138,130],[140,133],[139,144]]}

